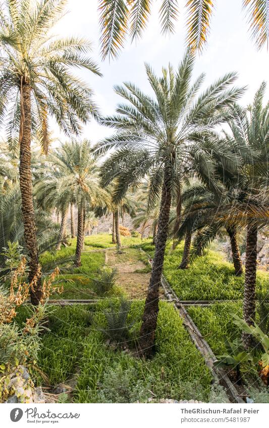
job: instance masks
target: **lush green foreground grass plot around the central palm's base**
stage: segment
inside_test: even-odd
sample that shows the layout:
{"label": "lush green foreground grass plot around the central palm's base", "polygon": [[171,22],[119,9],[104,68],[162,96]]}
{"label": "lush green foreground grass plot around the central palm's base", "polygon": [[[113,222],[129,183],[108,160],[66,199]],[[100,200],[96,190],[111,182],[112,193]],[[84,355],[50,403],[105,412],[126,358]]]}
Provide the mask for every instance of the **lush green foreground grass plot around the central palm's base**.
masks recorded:
{"label": "lush green foreground grass plot around the central palm's base", "polygon": [[[211,379],[208,369],[174,308],[161,303],[156,355],[145,362],[105,345],[100,327],[105,326],[103,311],[110,301],[104,299],[94,307],[54,309],[49,316],[50,332],[43,336],[38,359],[49,384],[67,382],[79,371],[75,402],[146,401],[151,395],[155,399],[206,400]],[[129,322],[134,322],[136,334],[142,311],[143,302],[133,301]]]}

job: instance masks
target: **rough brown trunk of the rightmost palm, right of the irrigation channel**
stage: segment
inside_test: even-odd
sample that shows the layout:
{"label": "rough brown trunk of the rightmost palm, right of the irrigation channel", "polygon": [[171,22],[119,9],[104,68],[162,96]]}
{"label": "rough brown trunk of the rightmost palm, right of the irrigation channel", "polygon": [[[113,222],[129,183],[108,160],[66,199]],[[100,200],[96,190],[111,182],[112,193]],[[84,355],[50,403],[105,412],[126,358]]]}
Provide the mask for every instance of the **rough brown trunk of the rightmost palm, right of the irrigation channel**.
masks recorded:
{"label": "rough brown trunk of the rightmost palm, right of the irrigation channel", "polygon": [[[258,230],[255,225],[248,225],[246,242],[246,264],[245,264],[245,284],[243,301],[243,318],[248,325],[254,325],[255,320],[255,285],[257,270],[257,237]],[[253,345],[254,340],[251,335],[242,334],[245,347]]]}

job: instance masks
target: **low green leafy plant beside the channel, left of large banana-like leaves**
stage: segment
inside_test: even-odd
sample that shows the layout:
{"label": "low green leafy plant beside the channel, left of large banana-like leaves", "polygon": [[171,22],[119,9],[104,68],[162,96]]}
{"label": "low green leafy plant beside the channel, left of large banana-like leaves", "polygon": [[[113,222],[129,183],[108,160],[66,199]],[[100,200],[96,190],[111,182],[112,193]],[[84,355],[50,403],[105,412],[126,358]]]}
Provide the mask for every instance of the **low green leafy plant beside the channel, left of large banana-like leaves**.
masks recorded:
{"label": "low green leafy plant beside the channel, left of large banana-like leaves", "polygon": [[248,362],[252,361],[252,357],[247,353],[243,347],[241,339],[235,339],[233,342],[225,340],[225,346],[227,352],[223,355],[217,355],[218,361],[214,363],[217,367],[231,366],[236,371],[236,383],[241,385],[241,369]]}

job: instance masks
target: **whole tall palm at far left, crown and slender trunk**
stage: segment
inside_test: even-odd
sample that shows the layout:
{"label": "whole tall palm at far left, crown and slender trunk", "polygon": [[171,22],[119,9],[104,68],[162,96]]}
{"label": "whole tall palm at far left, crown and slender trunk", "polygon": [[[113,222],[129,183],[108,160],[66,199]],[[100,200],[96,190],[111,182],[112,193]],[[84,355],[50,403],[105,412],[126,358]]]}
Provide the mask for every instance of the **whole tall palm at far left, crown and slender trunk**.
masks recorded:
{"label": "whole tall palm at far left, crown and slender trunk", "polygon": [[[8,134],[19,131],[20,190],[24,241],[29,253],[29,281],[38,271],[38,249],[32,197],[31,132],[44,152],[49,145],[48,117],[69,134],[79,133],[96,107],[92,91],[71,71],[81,67],[100,75],[87,56],[88,41],[49,35],[61,19],[65,0],[5,0],[0,12],[0,121],[8,118]],[[31,291],[38,304],[41,281]]]}

